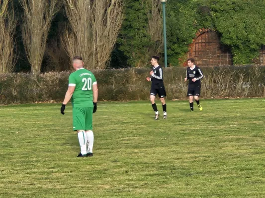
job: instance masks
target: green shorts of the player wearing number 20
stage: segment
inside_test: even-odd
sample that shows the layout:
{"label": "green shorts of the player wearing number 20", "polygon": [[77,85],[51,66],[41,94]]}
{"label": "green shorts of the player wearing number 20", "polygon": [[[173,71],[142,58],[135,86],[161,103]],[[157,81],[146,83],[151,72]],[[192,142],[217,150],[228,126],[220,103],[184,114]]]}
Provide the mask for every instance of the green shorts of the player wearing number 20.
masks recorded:
{"label": "green shorts of the player wearing number 20", "polygon": [[92,130],[93,107],[73,107],[73,130]]}

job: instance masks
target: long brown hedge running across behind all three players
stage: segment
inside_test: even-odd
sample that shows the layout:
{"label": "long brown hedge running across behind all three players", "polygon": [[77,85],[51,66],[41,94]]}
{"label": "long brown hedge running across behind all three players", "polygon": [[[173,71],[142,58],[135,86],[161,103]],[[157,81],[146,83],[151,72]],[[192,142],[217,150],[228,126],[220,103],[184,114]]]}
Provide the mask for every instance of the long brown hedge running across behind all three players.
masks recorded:
{"label": "long brown hedge running across behind all three players", "polygon": [[[265,97],[265,66],[201,67],[202,98]],[[147,100],[151,83],[145,78],[150,68],[105,69],[92,71],[97,79],[98,100]],[[48,72],[37,76],[26,73],[0,75],[0,104],[61,102],[68,87],[68,72]],[[167,99],[185,99],[186,68],[164,68]]]}

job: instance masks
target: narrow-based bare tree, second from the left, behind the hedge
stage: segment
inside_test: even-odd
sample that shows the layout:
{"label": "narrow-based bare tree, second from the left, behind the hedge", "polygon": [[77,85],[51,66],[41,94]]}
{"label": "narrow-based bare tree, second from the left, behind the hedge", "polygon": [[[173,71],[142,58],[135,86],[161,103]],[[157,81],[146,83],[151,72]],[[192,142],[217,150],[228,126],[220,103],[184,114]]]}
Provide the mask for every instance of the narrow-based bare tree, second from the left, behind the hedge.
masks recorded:
{"label": "narrow-based bare tree, second from the left, behind the hedge", "polygon": [[32,74],[40,73],[47,36],[61,0],[20,0],[24,8],[22,37]]}

